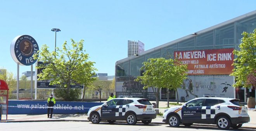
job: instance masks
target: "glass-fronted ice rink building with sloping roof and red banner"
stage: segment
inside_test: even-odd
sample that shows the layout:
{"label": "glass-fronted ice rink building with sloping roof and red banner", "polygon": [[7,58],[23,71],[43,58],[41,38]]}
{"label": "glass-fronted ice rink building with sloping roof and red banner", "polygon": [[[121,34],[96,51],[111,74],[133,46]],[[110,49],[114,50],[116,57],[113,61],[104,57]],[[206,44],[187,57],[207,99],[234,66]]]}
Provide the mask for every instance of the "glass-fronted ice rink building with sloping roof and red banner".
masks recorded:
{"label": "glass-fronted ice rink building with sloping roof and red banner", "polygon": [[[189,76],[178,89],[178,97],[189,101],[207,95],[238,98],[246,102],[248,96],[255,97],[255,89],[233,87],[235,79],[229,74],[234,68],[231,65],[235,58],[232,51],[239,50],[242,32],[253,33],[254,29],[256,10],[138,53],[137,56],[118,60],[115,67],[116,95],[155,99],[155,88],[143,89],[140,82],[134,81],[137,76],[142,76],[142,62],[149,58],[173,59],[177,56],[183,64],[188,64],[189,70]],[[132,46],[132,41],[130,43]],[[128,40],[128,56],[129,51]],[[160,99],[167,99],[166,89],[161,89],[160,93]],[[176,92],[171,90],[169,97],[176,100]]]}

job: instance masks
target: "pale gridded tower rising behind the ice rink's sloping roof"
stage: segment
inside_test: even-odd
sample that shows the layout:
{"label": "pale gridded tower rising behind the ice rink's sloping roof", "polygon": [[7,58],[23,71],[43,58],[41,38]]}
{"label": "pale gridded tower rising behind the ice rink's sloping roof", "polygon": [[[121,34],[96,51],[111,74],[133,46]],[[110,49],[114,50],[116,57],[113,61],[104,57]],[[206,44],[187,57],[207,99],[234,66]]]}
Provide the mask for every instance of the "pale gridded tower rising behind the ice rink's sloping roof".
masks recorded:
{"label": "pale gridded tower rising behind the ice rink's sloping roof", "polygon": [[144,52],[144,43],[128,40],[128,57]]}

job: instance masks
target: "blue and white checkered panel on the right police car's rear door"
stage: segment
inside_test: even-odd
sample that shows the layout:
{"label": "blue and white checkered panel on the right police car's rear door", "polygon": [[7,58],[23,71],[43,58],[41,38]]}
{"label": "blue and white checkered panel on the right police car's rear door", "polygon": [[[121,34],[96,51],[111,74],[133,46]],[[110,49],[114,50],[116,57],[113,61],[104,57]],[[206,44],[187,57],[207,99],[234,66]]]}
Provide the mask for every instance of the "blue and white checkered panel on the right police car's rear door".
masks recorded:
{"label": "blue and white checkered panel on the right police car's rear door", "polygon": [[215,117],[215,106],[202,107],[202,119],[212,119]]}

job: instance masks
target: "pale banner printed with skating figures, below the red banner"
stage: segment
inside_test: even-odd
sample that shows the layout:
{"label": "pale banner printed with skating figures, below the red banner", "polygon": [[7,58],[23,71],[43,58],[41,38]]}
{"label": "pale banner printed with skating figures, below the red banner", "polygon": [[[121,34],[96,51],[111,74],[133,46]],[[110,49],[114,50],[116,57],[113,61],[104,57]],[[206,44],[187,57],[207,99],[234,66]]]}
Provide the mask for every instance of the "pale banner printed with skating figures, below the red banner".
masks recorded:
{"label": "pale banner printed with skating figures, below the red banner", "polygon": [[185,101],[203,96],[232,98],[234,97],[232,84],[232,76],[188,76],[178,89],[178,96],[185,97]]}

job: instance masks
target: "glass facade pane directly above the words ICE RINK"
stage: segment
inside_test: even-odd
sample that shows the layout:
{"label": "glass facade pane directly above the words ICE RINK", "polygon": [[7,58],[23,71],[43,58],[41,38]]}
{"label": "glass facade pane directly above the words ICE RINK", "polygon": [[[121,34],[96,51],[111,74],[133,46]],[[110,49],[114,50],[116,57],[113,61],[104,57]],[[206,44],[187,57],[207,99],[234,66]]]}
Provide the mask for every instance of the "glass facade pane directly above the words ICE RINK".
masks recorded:
{"label": "glass facade pane directly above the words ICE RINK", "polygon": [[215,29],[215,45],[234,44],[234,23]]}

